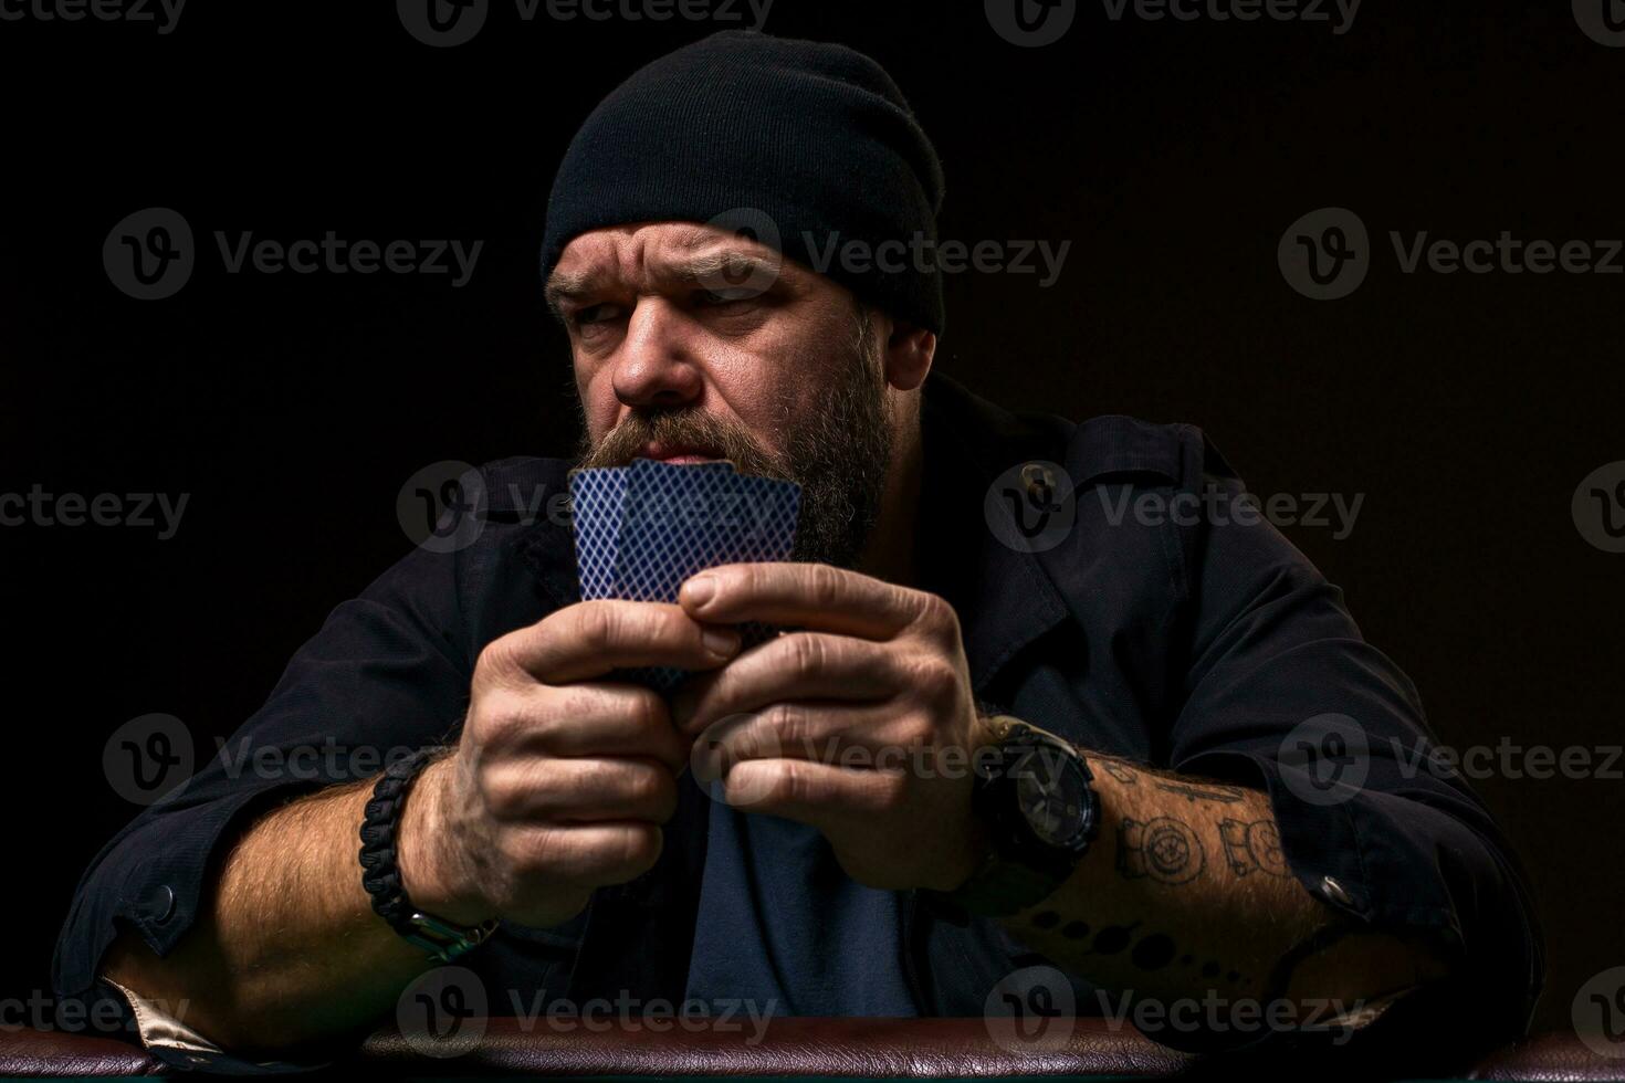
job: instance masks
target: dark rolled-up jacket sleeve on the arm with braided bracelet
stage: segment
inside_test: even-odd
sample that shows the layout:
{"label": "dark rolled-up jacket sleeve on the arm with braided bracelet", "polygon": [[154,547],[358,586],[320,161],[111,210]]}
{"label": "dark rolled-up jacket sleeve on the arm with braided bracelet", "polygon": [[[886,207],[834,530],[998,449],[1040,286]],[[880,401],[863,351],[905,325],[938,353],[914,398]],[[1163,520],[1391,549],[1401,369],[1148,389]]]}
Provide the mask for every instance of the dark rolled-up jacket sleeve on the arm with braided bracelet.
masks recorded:
{"label": "dark rolled-up jacket sleeve on the arm with braided bracelet", "polygon": [[120,927],[169,955],[208,904],[224,848],[258,812],[455,739],[471,675],[455,576],[453,555],[414,550],[335,609],[265,706],[96,854],[57,940],[60,999],[107,995],[101,960]]}

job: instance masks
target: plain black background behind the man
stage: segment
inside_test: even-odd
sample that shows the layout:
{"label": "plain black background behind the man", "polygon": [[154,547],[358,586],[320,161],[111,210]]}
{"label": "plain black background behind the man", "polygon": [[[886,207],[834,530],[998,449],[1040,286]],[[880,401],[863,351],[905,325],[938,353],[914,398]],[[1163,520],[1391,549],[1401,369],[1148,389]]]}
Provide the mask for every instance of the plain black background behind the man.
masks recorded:
{"label": "plain black background behind the man", "polygon": [[[11,826],[3,989],[49,987],[75,878],[135,807],[102,745],[162,711],[200,749],[410,542],[439,460],[564,455],[569,357],[536,279],[575,125],[642,62],[728,23],[523,23],[457,49],[393,5],[188,5],[172,34],[0,23],[0,492],[190,494],[177,536],[0,528]],[[1420,10],[1420,8],[1427,10]],[[951,276],[938,365],[1012,408],[1202,425],[1258,494],[1365,494],[1289,536],[1347,589],[1456,747],[1618,744],[1625,555],[1570,497],[1625,458],[1625,276],[1401,273],[1388,231],[1625,235],[1625,49],[1566,3],[1368,0],[1324,23],[1112,21],[1017,49],[982,5],[778,0],[769,32],[852,44],[942,156],[944,237],[1069,240],[1060,281]],[[200,239],[174,297],[102,268],[132,211]],[[1289,289],[1276,245],[1347,206],[1375,266]],[[473,281],[228,274],[216,229],[484,240]],[[1618,765],[1617,765],[1618,766]],[[1495,776],[1549,930],[1540,1028],[1625,963],[1618,779]]]}

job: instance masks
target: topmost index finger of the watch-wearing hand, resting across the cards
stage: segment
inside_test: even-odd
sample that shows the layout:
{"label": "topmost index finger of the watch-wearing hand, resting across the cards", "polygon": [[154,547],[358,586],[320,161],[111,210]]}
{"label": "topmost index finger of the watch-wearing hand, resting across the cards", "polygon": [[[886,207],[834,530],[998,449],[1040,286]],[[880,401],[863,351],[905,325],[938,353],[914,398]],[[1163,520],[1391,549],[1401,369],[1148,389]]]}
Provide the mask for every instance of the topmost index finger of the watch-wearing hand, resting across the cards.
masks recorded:
{"label": "topmost index finger of the watch-wearing hand, resting across the cards", "polygon": [[887,640],[920,617],[923,598],[827,563],[728,563],[689,578],[678,604],[696,620],[762,620]]}

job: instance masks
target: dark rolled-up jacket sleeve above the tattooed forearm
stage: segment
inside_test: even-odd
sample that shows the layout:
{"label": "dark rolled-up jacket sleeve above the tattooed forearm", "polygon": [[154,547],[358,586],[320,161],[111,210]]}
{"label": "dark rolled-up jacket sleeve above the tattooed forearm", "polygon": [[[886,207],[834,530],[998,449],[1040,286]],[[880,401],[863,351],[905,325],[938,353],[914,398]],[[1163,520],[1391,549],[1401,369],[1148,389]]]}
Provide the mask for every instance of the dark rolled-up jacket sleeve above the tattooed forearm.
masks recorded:
{"label": "dark rolled-up jacket sleeve above the tattooed forearm", "polygon": [[[1190,656],[1168,762],[1269,794],[1294,875],[1373,930],[1454,955],[1476,1025],[1516,1036],[1544,945],[1526,874],[1438,757],[1415,687],[1363,640],[1339,588],[1204,445],[1209,513],[1188,547]],[[1219,511],[1212,511],[1219,508]]]}

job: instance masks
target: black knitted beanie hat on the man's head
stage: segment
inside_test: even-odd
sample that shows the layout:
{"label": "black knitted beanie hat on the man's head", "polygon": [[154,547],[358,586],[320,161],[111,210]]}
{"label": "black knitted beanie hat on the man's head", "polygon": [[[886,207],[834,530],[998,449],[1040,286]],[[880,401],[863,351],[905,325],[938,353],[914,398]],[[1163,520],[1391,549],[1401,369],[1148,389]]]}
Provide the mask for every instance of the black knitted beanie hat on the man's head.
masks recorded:
{"label": "black knitted beanie hat on the man's head", "polygon": [[722,31],[635,71],[575,133],[548,198],[541,278],[592,229],[718,219],[941,334],[941,205],[936,151],[879,63]]}

